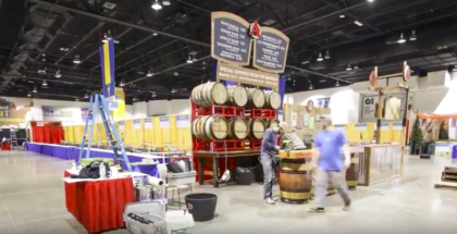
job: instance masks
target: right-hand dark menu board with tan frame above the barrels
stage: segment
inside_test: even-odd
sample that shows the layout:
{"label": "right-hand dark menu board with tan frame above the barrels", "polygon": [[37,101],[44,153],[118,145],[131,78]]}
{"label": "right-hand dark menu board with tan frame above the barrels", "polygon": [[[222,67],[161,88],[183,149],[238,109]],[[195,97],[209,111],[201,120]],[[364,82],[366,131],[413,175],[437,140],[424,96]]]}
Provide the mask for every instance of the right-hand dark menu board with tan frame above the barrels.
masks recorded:
{"label": "right-hand dark menu board with tan frame above the barrels", "polygon": [[271,73],[283,73],[289,38],[272,27],[262,27],[262,35],[254,41],[254,67]]}

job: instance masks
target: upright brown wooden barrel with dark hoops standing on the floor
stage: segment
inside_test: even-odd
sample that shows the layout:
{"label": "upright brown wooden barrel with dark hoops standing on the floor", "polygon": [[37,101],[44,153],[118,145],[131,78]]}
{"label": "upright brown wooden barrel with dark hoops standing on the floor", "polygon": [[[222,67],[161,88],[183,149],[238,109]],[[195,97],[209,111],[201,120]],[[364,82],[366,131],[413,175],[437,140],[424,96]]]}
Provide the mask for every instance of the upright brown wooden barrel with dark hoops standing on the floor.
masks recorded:
{"label": "upright brown wooden barrel with dark hoops standing on the floor", "polygon": [[283,202],[308,202],[312,187],[309,161],[309,159],[281,159],[280,188]]}

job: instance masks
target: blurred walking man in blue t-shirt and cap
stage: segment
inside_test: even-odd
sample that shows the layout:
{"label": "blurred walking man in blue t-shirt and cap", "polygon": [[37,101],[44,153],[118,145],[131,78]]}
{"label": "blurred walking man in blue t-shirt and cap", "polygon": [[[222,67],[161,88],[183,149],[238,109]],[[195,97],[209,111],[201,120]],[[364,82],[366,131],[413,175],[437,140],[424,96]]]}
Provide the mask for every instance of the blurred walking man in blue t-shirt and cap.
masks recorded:
{"label": "blurred walking man in blue t-shirt and cap", "polygon": [[[320,122],[323,130],[316,136],[314,156],[311,161],[311,165],[316,170],[314,189],[318,207],[312,208],[310,211],[325,211],[324,201],[329,182],[336,187],[342,196],[344,210],[348,210],[350,198],[344,173],[346,168],[350,165],[349,146],[346,144],[345,134],[332,126],[332,121],[329,116],[321,118]],[[342,151],[344,156],[342,156]]]}

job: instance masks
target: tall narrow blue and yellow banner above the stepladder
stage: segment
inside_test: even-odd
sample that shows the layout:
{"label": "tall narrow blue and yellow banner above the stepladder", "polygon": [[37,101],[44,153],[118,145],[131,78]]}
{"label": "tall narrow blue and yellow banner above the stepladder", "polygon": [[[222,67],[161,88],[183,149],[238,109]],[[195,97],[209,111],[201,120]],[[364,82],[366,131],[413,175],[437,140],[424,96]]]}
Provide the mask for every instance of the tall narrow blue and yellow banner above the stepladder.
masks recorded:
{"label": "tall narrow blue and yellow banner above the stepladder", "polygon": [[99,48],[101,84],[107,101],[115,100],[115,69],[114,69],[114,41],[108,40]]}

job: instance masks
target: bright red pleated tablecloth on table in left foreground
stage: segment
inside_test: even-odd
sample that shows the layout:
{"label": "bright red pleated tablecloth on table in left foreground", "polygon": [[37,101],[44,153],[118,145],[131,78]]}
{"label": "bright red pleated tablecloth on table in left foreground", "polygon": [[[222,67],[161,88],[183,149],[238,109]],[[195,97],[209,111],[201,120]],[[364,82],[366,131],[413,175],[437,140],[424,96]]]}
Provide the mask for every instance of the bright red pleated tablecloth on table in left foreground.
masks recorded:
{"label": "bright red pleated tablecloth on table in left foreground", "polygon": [[[65,177],[69,176],[65,171]],[[132,178],[65,182],[64,186],[66,209],[88,233],[124,227],[124,207],[135,201]]]}

